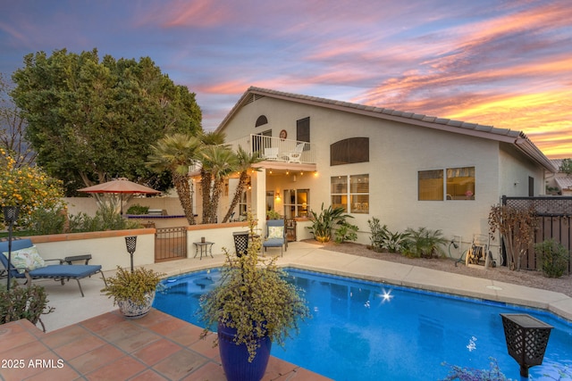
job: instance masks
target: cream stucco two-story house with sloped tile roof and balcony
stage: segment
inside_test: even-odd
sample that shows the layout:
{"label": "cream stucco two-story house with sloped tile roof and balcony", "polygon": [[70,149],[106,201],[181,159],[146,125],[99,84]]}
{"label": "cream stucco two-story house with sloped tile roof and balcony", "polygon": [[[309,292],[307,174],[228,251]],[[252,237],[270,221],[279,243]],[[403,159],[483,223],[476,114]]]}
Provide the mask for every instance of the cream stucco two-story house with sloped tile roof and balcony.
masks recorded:
{"label": "cream stucco two-story house with sloped tile roof and balcony", "polygon": [[266,157],[242,211],[303,220],[323,203],[343,206],[362,244],[374,217],[391,231],[441,229],[470,243],[488,233],[502,195],[543,195],[544,171],[556,170],[523,132],[258,87],[217,131]]}

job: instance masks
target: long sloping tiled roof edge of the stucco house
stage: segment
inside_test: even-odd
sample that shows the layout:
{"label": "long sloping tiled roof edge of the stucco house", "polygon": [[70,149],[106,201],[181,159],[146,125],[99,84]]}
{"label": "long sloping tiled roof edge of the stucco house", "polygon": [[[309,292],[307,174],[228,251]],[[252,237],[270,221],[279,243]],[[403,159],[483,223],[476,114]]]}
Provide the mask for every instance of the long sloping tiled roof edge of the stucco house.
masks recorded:
{"label": "long sloping tiled roof edge of the stucco house", "polygon": [[365,104],[352,104],[349,102],[335,101],[332,99],[319,98],[315,96],[284,93],[281,91],[269,90],[260,87],[248,87],[248,90],[240,97],[239,102],[237,102],[237,104],[232,107],[231,112],[226,115],[216,130],[222,130],[232,119],[234,114],[240,110],[241,107],[264,96],[282,99],[290,102],[297,102],[299,104],[310,104],[318,107],[340,110],[343,112],[367,115],[383,120],[395,120],[416,126],[441,129],[453,133],[470,135],[474,137],[483,137],[486,139],[509,143],[515,145],[519,151],[524,153],[534,162],[543,166],[545,170],[549,170],[551,172],[558,171],[558,167],[555,167],[552,162],[544,155],[544,153],[542,153],[542,151],[540,151],[522,131],[513,131],[509,128],[494,128],[492,126],[486,126],[477,123],[467,123],[460,120],[437,118],[424,114],[417,114],[414,112],[400,112],[396,110],[385,109],[383,107],[368,106]]}

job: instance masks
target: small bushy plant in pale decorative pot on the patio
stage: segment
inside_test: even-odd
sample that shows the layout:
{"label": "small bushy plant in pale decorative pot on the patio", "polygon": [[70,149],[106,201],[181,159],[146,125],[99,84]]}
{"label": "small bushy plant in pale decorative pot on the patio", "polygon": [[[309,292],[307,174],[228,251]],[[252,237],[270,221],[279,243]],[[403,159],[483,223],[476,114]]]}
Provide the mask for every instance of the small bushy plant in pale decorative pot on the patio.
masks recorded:
{"label": "small bushy plant in pale decorative pot on the patio", "polygon": [[114,305],[119,306],[119,311],[126,318],[142,318],[151,310],[163,276],[152,269],[138,268],[130,271],[117,266],[114,277],[107,278],[107,286],[101,292],[114,298]]}

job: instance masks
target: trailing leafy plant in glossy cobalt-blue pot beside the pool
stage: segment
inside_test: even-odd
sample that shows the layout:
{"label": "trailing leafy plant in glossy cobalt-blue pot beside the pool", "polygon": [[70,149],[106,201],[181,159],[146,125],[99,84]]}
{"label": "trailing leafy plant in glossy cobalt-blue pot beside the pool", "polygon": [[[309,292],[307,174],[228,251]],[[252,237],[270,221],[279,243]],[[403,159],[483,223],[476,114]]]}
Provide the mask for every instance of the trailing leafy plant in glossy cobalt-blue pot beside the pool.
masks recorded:
{"label": "trailing leafy plant in glossy cobalt-blue pot beside the pool", "polygon": [[283,346],[291,332],[298,333],[299,321],[309,316],[301,290],[277,267],[278,257],[259,256],[256,225],[248,212],[251,241],[247,255],[237,257],[224,249],[221,281],[200,301],[199,315],[206,323],[201,337],[217,327],[214,345],[219,346],[228,380],[260,380],[272,343]]}

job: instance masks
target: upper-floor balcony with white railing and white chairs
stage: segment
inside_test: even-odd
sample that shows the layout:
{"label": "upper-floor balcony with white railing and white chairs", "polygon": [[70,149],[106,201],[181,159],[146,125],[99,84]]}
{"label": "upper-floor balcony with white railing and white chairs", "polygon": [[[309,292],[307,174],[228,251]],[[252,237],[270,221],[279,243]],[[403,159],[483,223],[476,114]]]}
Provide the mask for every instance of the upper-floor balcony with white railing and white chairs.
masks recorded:
{"label": "upper-floor balcony with white railing and white chairs", "polygon": [[235,151],[240,146],[248,153],[259,152],[265,162],[315,163],[314,145],[299,140],[251,134],[226,144]]}

